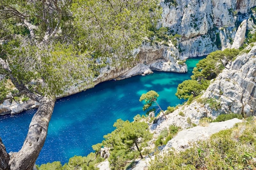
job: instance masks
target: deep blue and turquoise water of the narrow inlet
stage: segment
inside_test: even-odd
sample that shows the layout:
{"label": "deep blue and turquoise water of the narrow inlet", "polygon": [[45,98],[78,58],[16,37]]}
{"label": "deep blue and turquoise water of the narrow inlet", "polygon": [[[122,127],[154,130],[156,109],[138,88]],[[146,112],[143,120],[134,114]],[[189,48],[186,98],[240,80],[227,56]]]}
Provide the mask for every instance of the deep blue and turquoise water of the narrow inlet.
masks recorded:
{"label": "deep blue and turquoise water of the narrow inlet", "polygon": [[[92,145],[100,143],[103,136],[114,130],[113,123],[121,118],[132,121],[144,114],[139,102],[142,93],[155,90],[162,109],[181,104],[174,94],[177,86],[192,75],[193,67],[203,57],[187,60],[188,73],[155,71],[147,76],[134,76],[119,81],[107,81],[94,88],[56,101],[48,135],[36,164],[68,162],[74,155],[86,156]],[[18,115],[0,117],[0,137],[7,152],[20,150],[28,126],[36,109]]]}

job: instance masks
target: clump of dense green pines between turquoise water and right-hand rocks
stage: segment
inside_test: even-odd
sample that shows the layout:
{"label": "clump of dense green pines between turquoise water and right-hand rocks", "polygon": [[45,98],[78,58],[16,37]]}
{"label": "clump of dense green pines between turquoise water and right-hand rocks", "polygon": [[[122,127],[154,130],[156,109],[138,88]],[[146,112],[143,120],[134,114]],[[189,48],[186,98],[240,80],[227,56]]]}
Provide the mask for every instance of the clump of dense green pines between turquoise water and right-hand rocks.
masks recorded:
{"label": "clump of dense green pines between turquoise water and right-hand rocks", "polygon": [[[196,67],[192,71],[193,75],[191,76],[191,80],[185,80],[178,85],[175,95],[179,99],[188,99],[188,104],[191,103],[196,96],[207,89],[210,85],[210,80],[216,78],[225,68],[223,64],[231,64],[238,54],[239,50],[234,48],[227,48],[224,51],[218,50],[210,53],[206,58],[196,64]],[[224,60],[226,63],[222,63]],[[215,108],[218,109],[218,106]]]}

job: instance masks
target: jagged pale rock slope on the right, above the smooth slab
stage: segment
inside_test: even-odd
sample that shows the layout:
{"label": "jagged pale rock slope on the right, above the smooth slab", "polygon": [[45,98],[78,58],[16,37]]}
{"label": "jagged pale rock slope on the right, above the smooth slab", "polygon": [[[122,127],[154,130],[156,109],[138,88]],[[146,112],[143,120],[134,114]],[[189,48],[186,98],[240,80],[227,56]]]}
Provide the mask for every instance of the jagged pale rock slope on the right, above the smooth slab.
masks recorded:
{"label": "jagged pale rock slope on the right, above the smooth slab", "polygon": [[[231,68],[224,69],[201,98],[220,102],[220,109],[210,108],[209,104],[203,105],[194,101],[190,105],[178,107],[167,115],[166,120],[160,114],[156,123],[149,126],[154,137],[171,124],[188,128],[191,127],[191,123],[198,124],[199,119],[204,116],[214,118],[230,112],[245,116],[256,115],[256,43],[245,48],[232,63]],[[183,115],[179,114],[180,112]],[[188,118],[191,121],[188,121]]]}

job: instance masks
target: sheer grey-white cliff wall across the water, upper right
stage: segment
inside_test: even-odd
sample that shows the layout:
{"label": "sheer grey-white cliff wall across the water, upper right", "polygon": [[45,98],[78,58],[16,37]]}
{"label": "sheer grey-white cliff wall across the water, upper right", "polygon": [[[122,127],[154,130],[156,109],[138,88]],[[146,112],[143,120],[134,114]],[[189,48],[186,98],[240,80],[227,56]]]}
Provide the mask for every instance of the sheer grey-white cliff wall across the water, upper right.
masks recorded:
{"label": "sheer grey-white cliff wall across the water, upper right", "polygon": [[184,59],[230,48],[239,23],[251,17],[250,9],[256,1],[162,0],[160,4],[163,8],[160,25],[181,35],[179,58]]}

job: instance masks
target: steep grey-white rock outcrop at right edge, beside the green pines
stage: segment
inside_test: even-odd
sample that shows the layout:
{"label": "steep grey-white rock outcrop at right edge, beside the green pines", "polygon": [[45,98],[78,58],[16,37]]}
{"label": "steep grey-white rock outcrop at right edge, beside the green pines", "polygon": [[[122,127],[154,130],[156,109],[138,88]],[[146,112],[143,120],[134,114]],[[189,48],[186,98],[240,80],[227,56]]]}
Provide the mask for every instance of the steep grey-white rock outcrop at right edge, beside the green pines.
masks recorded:
{"label": "steep grey-white rock outcrop at right edge, beside the green pines", "polygon": [[[220,113],[256,115],[256,43],[246,50],[250,52],[239,55],[231,69],[223,70],[202,96],[219,100]],[[212,112],[212,116],[219,112]]]}

